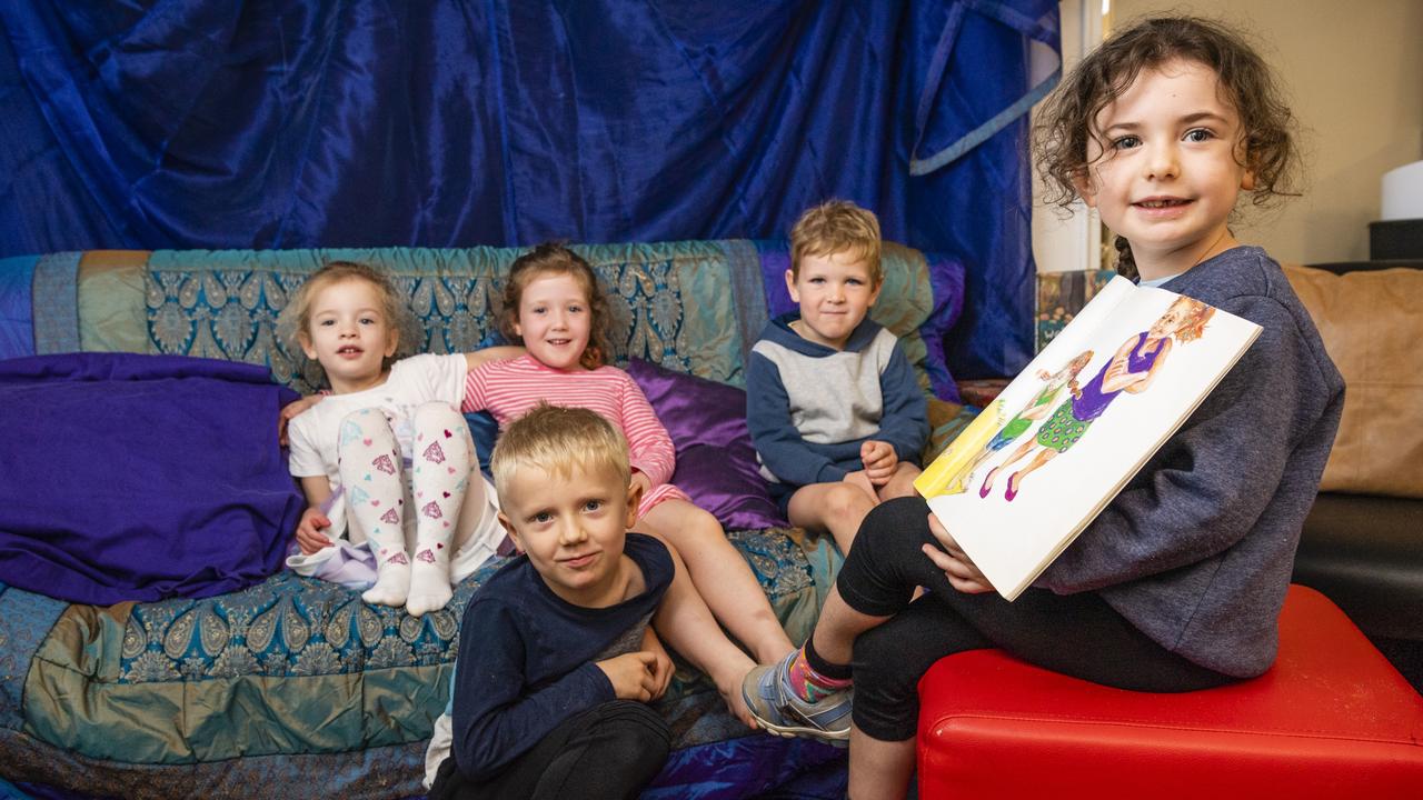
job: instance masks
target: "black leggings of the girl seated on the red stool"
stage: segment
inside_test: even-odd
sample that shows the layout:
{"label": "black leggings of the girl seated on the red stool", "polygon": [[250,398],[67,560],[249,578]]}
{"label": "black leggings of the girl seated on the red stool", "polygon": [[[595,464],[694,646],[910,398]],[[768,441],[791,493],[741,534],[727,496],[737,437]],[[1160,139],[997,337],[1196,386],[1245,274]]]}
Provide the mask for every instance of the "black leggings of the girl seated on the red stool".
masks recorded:
{"label": "black leggings of the girl seated on the red stool", "polygon": [[[962,594],[924,555],[929,507],[891,500],[865,517],[835,588],[850,608],[889,616],[855,639],[855,725],[874,739],[915,735],[918,683],[941,658],[980,648],[1094,683],[1137,692],[1191,692],[1235,680],[1168,652],[1093,592],[1029,588],[1007,602]],[[915,586],[929,594],[909,602]]]}

